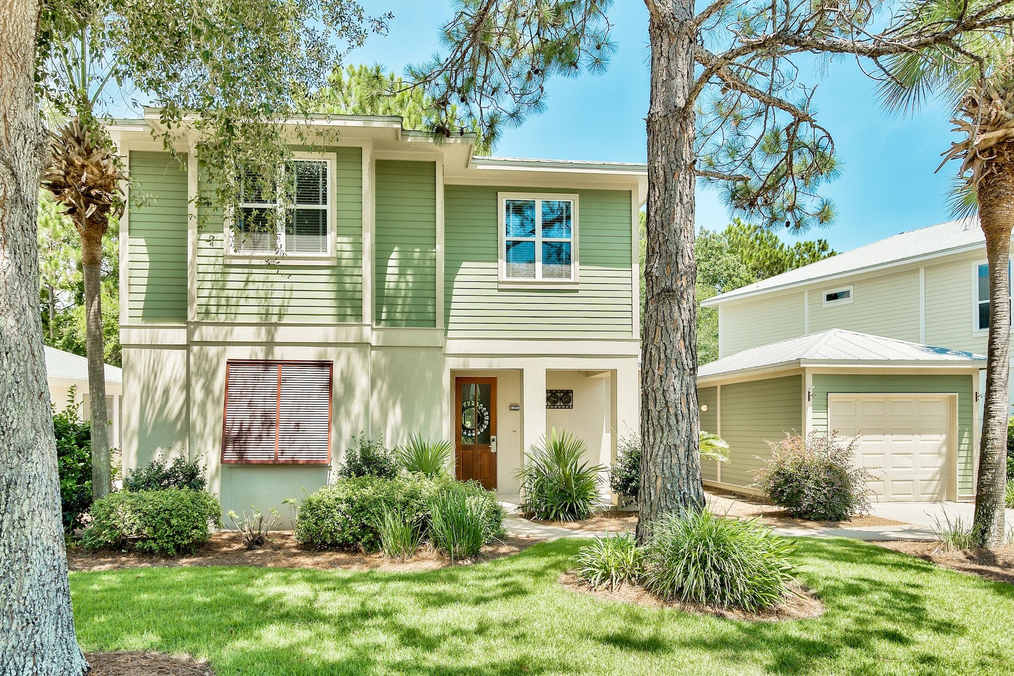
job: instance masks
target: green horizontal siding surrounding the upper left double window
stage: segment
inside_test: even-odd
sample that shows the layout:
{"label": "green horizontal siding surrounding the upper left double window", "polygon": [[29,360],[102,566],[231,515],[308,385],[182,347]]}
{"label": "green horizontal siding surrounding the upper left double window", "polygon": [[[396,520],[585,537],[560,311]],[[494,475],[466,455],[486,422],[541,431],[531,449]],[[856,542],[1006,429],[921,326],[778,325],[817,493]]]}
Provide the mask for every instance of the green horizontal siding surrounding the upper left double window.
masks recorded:
{"label": "green horizontal siding surrounding the upper left double window", "polygon": [[[362,149],[334,147],[337,264],[225,265],[222,215],[215,210],[197,250],[197,318],[205,321],[362,321]],[[208,185],[202,176],[202,195]]]}

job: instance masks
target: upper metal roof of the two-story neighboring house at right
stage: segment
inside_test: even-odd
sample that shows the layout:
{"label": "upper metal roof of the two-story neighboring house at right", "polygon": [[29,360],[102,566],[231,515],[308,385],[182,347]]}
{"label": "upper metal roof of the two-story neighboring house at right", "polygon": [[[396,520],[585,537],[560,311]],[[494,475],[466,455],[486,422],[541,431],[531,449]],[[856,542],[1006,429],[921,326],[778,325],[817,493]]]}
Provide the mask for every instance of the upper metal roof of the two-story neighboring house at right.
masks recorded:
{"label": "upper metal roof of the two-story neighboring house at right", "polygon": [[808,266],[769,277],[740,289],[713,296],[702,305],[719,305],[728,300],[787,289],[819,279],[844,277],[864,271],[890,268],[925,258],[972,250],[986,245],[979,219],[968,217],[910,230],[854,248]]}

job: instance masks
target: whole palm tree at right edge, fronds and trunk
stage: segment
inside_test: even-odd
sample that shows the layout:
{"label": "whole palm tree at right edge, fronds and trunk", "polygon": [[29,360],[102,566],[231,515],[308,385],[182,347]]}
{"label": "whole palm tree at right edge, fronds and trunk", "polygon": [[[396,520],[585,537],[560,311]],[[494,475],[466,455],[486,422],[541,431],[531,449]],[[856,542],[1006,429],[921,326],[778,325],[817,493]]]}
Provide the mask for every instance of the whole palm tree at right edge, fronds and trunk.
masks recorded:
{"label": "whole palm tree at right edge, fronds and trunk", "polygon": [[[973,11],[990,0],[935,0],[909,10],[914,25],[932,26]],[[910,110],[930,97],[953,106],[951,123],[960,139],[943,154],[941,167],[960,160],[955,176],[955,210],[977,209],[989,260],[989,343],[986,403],[972,530],[981,546],[1004,538],[1008,380],[1010,377],[1010,275],[1014,228],[1014,41],[1010,24],[992,32],[956,34],[924,50],[882,62],[880,87],[889,109]],[[939,167],[938,167],[939,170]]]}

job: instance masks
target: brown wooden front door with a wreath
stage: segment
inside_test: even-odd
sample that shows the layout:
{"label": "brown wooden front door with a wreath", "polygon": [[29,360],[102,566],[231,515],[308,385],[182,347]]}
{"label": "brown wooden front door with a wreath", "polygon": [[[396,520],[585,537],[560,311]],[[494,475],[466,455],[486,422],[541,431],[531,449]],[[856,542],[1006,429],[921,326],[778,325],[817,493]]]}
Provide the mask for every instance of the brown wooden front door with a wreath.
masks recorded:
{"label": "brown wooden front door with a wreath", "polygon": [[457,478],[497,490],[497,379],[454,378]]}

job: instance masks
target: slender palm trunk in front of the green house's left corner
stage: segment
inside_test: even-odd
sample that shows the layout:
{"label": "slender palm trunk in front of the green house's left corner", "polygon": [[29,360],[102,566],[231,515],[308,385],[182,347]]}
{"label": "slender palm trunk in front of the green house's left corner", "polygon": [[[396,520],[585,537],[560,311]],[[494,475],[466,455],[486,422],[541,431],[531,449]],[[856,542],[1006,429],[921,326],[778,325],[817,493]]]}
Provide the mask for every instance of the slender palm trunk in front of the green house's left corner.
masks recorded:
{"label": "slender palm trunk in front of the green house's left corner", "polygon": [[91,423],[91,494],[95,500],[113,490],[110,467],[110,419],[105,409],[105,344],[102,340],[102,234],[82,223],[81,269],[84,272],[84,330],[88,352],[88,420]]}

